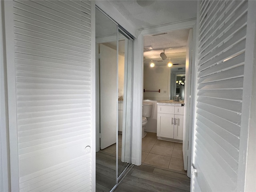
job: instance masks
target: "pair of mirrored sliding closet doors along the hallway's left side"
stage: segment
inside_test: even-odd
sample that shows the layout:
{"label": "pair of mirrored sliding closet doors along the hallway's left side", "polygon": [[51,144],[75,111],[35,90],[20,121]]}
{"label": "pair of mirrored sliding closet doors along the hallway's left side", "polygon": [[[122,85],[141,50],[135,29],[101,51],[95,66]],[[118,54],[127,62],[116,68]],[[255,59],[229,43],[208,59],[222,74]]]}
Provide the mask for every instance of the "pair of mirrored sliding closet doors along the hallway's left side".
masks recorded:
{"label": "pair of mirrored sliding closet doors along the hallway's left side", "polygon": [[109,189],[131,167],[132,47],[133,39],[96,8],[96,184]]}

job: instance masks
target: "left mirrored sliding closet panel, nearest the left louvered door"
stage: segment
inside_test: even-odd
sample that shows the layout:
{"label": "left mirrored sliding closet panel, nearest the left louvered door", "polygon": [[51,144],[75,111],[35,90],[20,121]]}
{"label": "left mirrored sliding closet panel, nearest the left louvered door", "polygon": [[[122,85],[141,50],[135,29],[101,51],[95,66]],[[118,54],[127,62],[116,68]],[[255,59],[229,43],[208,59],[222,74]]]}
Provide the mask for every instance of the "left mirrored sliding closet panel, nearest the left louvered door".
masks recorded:
{"label": "left mirrored sliding closet panel, nearest the left louvered door", "polygon": [[[96,186],[112,189],[117,182],[117,31],[118,26],[96,9]],[[107,184],[107,185],[106,185]],[[97,189],[96,187],[96,189]],[[100,189],[97,189],[100,191]]]}

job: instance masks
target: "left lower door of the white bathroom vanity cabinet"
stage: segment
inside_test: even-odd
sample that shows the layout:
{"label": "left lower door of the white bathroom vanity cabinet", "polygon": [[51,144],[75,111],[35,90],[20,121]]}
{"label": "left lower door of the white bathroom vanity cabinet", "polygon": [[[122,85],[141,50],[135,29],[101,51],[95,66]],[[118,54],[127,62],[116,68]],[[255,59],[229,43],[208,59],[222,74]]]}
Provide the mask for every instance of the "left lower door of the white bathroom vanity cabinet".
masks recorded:
{"label": "left lower door of the white bathroom vanity cabinet", "polygon": [[174,115],[173,114],[157,114],[157,136],[173,138],[174,128]]}

